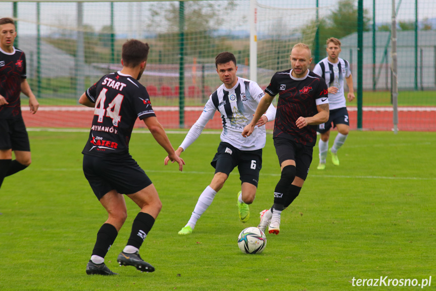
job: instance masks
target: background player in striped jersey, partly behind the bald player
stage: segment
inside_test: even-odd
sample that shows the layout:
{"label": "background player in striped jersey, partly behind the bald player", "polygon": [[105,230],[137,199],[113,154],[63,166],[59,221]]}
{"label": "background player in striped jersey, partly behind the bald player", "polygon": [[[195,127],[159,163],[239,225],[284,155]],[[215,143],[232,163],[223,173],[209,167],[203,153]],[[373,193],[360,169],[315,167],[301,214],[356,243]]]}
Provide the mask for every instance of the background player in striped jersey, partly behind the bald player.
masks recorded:
{"label": "background player in striped jersey, partly behind the bald player", "polygon": [[[353,76],[351,75],[350,64],[339,57],[341,53],[341,41],[337,38],[330,37],[327,39],[328,57],[316,64],[313,72],[322,76],[328,86],[328,103],[330,106],[330,117],[325,123],[318,126],[317,131],[320,133],[318,142],[319,147],[319,164],[317,169],[325,169],[327,150],[331,154],[331,161],[334,165],[339,165],[337,151],[342,147],[347,139],[350,130],[350,121],[348,120],[348,110],[344,97],[344,77],[347,80],[349,93],[348,101],[353,101]],[[328,149],[328,139],[330,138],[331,123],[337,128],[337,136],[334,139],[333,146]]]}

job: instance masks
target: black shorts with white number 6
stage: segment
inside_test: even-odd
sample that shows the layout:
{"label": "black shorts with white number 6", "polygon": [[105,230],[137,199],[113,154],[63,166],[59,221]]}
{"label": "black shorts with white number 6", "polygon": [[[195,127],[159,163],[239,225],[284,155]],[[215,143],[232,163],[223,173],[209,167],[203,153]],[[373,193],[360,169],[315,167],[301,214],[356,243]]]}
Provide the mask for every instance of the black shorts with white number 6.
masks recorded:
{"label": "black shorts with white number 6", "polygon": [[257,187],[259,172],[262,169],[262,149],[240,150],[229,143],[220,142],[212,162],[216,173],[230,175],[237,166],[241,183],[250,183]]}

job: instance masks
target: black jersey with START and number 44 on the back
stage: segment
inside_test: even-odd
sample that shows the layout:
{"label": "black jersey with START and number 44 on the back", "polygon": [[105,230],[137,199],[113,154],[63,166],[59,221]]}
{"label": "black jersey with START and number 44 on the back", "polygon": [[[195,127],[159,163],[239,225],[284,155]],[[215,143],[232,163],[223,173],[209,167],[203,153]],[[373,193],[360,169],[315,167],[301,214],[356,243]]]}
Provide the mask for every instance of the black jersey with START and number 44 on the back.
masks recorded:
{"label": "black jersey with START and number 44 on the back", "polygon": [[156,116],[146,88],[118,71],[103,76],[85,94],[95,107],[82,153],[112,159],[128,156],[136,118]]}

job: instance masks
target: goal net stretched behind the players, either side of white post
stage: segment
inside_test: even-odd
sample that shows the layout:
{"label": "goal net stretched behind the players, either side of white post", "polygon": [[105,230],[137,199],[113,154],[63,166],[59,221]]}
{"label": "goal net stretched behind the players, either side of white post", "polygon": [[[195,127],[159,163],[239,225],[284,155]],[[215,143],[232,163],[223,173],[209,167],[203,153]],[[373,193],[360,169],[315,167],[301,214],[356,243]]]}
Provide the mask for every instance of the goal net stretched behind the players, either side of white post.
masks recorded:
{"label": "goal net stretched behind the players, either side of white post", "polygon": [[[129,38],[151,47],[140,81],[166,128],[188,128],[197,120],[209,95],[221,85],[215,68],[218,53],[232,52],[238,76],[250,78],[249,0],[182,5],[2,2],[0,11],[17,22],[15,46],[26,53],[28,81],[41,104],[32,116],[23,109],[28,127],[88,128],[92,109],[77,100],[102,75],[121,69],[121,46]],[[313,44],[315,11],[291,7],[287,0],[258,1],[260,86],[265,87],[275,71],[290,67],[295,43]],[[27,105],[24,96],[22,105]],[[209,128],[221,127],[220,118],[209,123]]]}

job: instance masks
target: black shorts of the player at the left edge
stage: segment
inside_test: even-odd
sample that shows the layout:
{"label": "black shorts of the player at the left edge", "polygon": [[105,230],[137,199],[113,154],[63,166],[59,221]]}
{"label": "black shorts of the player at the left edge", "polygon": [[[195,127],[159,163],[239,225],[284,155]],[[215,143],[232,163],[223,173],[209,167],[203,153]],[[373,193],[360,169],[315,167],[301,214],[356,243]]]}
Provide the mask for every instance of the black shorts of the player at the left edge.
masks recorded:
{"label": "black shorts of the player at the left edge", "polygon": [[0,118],[0,150],[30,151],[29,136],[23,117]]}

